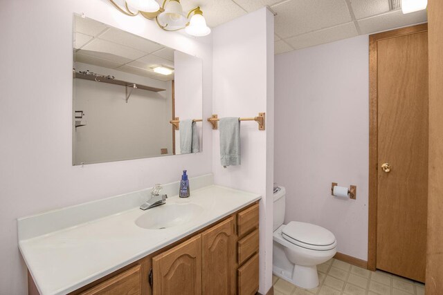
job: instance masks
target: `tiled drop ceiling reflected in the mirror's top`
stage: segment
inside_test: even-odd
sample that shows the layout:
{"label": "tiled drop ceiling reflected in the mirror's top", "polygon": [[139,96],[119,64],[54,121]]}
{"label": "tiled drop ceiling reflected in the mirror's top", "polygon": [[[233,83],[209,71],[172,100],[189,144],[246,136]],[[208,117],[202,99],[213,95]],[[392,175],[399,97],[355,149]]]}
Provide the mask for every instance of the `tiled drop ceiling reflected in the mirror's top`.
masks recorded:
{"label": "tiled drop ceiling reflected in the mirror's top", "polygon": [[174,68],[174,50],[98,21],[75,17],[74,50],[75,61],[84,64],[160,81],[174,79],[173,73],[160,75],[152,70],[155,66]]}

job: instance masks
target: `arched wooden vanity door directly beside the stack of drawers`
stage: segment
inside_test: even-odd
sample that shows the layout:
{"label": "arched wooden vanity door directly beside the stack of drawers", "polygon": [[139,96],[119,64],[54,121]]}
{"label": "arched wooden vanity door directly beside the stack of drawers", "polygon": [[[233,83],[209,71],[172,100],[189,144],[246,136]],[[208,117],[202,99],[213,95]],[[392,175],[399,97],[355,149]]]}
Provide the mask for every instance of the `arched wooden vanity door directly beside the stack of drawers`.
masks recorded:
{"label": "arched wooden vanity door directly beside the stack of drawers", "polygon": [[203,294],[235,294],[234,218],[201,234]]}

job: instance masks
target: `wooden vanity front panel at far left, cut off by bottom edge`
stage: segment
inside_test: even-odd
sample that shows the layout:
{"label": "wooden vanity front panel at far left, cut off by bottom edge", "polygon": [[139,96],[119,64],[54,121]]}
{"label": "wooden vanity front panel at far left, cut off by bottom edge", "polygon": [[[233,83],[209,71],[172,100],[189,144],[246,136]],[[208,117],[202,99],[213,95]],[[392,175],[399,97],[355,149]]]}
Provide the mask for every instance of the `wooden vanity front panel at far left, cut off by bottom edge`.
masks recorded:
{"label": "wooden vanity front panel at far left, cut off by bottom edge", "polygon": [[136,265],[82,293],[82,295],[99,294],[141,294],[141,266]]}

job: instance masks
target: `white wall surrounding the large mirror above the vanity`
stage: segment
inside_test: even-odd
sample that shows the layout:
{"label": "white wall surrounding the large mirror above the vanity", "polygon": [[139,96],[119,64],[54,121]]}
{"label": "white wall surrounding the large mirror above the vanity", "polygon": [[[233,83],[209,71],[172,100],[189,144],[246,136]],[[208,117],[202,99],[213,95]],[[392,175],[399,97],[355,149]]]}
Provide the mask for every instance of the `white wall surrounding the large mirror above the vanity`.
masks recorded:
{"label": "white wall surrounding the large mirror above the vanity", "polygon": [[204,60],[204,117],[212,113],[212,41],[164,32],[105,0],[3,1],[0,10],[0,294],[26,294],[15,218],[212,170],[204,152],[72,166],[73,12]]}

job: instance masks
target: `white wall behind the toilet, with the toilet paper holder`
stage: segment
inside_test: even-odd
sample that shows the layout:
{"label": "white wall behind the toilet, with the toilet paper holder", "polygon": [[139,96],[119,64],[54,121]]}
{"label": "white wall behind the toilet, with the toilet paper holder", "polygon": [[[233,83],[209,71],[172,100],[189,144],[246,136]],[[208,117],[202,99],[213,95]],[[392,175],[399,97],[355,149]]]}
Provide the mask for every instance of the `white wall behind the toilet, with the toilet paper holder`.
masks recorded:
{"label": "white wall behind the toilet, with the toilet paper holder", "polygon": [[[338,251],[367,260],[368,36],[275,56],[275,182],[285,222],[332,231]],[[357,186],[356,200],[331,182]]]}

